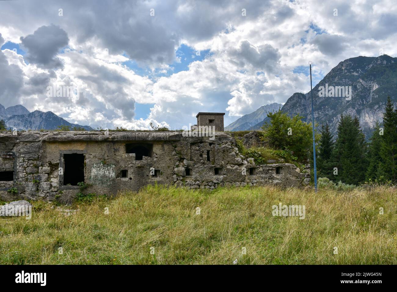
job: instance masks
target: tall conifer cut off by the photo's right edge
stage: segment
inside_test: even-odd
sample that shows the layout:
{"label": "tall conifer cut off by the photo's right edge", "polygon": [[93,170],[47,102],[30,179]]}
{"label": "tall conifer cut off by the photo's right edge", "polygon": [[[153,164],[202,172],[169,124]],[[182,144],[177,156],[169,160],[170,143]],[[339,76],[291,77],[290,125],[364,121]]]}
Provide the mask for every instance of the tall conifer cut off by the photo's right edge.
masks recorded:
{"label": "tall conifer cut off by the photo's right edge", "polygon": [[397,109],[387,97],[383,114],[384,134],[380,147],[381,169],[387,180],[397,182]]}

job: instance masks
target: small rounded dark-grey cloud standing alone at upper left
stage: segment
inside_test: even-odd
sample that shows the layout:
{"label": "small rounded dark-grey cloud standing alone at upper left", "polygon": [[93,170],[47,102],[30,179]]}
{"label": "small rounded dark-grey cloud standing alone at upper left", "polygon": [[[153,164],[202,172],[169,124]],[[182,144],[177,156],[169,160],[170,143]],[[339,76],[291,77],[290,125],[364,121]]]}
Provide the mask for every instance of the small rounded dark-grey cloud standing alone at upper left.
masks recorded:
{"label": "small rounded dark-grey cloud standing alone at upper left", "polygon": [[62,61],[56,55],[67,46],[69,38],[66,31],[56,25],[39,27],[33,35],[21,37],[21,46],[27,50],[25,58],[28,62],[42,68],[60,68]]}

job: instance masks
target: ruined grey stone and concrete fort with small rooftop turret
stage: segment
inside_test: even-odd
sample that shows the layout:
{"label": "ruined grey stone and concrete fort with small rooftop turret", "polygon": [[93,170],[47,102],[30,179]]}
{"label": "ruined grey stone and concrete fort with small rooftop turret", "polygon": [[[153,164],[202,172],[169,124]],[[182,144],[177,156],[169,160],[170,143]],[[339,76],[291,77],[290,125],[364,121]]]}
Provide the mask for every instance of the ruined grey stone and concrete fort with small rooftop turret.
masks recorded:
{"label": "ruined grey stone and concrete fort with small rooftop turret", "polygon": [[181,131],[0,133],[0,197],[71,202],[81,182],[85,193],[97,195],[155,183],[191,189],[308,184],[309,174],[293,164],[245,159],[222,132],[223,115],[204,115],[197,126],[215,124],[212,139]]}

